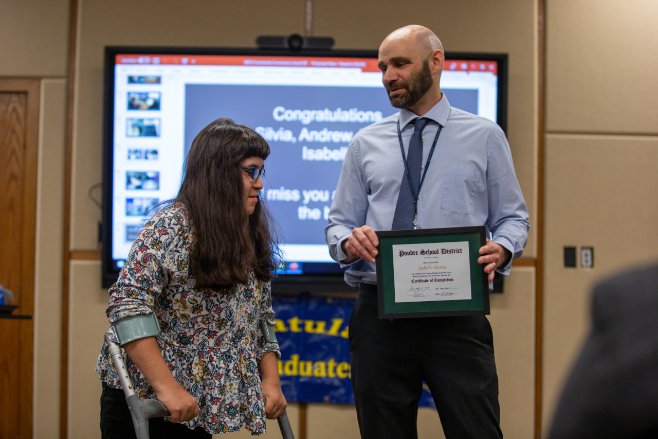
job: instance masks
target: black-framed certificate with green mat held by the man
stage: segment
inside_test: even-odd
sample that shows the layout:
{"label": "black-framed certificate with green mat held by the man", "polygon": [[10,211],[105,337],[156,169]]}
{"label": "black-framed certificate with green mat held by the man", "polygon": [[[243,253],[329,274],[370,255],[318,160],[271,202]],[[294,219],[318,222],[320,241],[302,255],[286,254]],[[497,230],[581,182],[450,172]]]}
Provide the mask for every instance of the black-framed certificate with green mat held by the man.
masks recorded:
{"label": "black-framed certificate with green mat held by the man", "polygon": [[379,318],[490,314],[484,225],[377,232]]}

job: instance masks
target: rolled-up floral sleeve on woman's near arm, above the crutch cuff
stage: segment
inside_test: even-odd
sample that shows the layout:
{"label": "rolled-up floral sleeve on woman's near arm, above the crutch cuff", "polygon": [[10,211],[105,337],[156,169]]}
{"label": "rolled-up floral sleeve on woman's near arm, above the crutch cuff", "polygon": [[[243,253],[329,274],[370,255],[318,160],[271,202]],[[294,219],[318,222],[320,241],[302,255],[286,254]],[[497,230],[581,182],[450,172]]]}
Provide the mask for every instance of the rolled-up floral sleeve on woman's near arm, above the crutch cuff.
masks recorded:
{"label": "rolled-up floral sleeve on woman's near arm, above the crutch cuff", "polygon": [[[172,275],[168,249],[180,222],[156,214],[139,231],[118,280],[110,287],[105,313],[111,324],[116,320],[153,312],[154,301]],[[174,258],[175,260],[175,258]]]}

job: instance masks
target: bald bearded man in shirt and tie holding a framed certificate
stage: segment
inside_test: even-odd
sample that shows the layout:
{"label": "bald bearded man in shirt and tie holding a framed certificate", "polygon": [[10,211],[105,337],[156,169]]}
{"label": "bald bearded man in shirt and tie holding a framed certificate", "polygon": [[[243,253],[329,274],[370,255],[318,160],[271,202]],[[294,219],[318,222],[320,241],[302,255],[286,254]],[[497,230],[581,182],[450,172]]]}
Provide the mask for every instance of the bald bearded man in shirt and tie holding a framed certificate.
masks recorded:
{"label": "bald bearded man in shirt and tie holding a framed certificate", "polygon": [[[416,438],[424,380],[447,438],[499,438],[488,320],[378,319],[375,231],[485,225],[491,240],[480,249],[478,263],[490,282],[495,272],[508,274],[530,227],[509,144],[492,121],[450,106],[439,84],[443,47],[428,28],[392,32],[380,45],[378,66],[400,111],[354,136],[325,229],[332,257],[347,267],[345,281],[359,286],[349,345],[361,437]],[[419,117],[427,119],[418,125],[424,125],[424,179],[413,194],[403,157]],[[416,200],[415,221],[398,220],[403,197]]]}

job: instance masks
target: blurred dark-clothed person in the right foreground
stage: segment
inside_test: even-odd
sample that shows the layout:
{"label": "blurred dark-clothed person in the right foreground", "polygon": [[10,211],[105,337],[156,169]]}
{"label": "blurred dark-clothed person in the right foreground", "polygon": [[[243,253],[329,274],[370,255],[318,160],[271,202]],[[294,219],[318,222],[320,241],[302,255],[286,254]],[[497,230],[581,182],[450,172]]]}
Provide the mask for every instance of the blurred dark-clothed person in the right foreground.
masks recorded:
{"label": "blurred dark-clothed person in the right foreground", "polygon": [[549,439],[658,438],[658,264],[602,281]]}

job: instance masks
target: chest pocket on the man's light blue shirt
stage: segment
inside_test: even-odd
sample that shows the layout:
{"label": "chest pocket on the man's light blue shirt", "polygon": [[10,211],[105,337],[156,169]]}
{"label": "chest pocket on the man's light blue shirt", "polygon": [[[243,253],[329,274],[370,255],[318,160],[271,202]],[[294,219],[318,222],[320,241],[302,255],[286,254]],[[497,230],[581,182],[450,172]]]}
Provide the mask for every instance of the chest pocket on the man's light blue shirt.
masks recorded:
{"label": "chest pocket on the man's light blue shirt", "polygon": [[463,167],[443,168],[441,208],[457,215],[472,215],[480,173]]}

